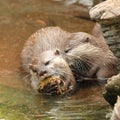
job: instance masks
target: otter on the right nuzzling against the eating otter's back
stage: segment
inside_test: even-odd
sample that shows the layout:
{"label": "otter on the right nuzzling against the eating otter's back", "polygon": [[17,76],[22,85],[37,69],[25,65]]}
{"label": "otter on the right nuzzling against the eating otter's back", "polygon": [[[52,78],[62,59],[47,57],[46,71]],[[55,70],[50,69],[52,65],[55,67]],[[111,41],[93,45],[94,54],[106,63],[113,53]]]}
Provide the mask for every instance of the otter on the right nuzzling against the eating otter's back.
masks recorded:
{"label": "otter on the right nuzzling against the eating otter's back", "polygon": [[117,73],[116,57],[103,39],[87,33],[73,33],[66,47],[66,61],[76,79],[81,76],[104,79]]}

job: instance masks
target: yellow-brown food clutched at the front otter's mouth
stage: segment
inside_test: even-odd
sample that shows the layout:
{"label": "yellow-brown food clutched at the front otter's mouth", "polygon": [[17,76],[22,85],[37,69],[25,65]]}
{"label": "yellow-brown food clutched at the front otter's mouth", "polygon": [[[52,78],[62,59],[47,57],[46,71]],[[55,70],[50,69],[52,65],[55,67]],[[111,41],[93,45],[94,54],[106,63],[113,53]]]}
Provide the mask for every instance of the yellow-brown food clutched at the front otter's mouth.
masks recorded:
{"label": "yellow-brown food clutched at the front otter's mouth", "polygon": [[73,93],[75,86],[68,81],[64,81],[61,78],[52,76],[40,82],[39,92],[47,95],[64,95],[67,93]]}

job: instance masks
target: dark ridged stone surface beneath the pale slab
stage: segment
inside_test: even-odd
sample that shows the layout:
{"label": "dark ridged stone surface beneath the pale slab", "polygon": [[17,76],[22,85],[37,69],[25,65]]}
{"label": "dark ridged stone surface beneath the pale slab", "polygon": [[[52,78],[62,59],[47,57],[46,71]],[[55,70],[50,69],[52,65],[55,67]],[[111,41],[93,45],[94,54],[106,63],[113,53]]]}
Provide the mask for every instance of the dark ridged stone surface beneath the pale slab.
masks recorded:
{"label": "dark ridged stone surface beneath the pale slab", "polygon": [[117,68],[120,71],[120,17],[111,20],[101,20],[103,36],[111,51],[118,58]]}

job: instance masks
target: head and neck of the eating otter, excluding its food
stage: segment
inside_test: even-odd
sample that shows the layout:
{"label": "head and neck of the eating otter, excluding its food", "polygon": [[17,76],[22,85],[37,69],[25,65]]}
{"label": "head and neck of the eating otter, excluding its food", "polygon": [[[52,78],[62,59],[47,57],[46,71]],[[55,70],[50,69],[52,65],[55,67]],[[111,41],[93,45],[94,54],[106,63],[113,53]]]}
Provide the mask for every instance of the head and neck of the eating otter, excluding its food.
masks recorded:
{"label": "head and neck of the eating otter, excluding its food", "polygon": [[59,50],[44,51],[37,59],[37,64],[32,66],[31,70],[36,73],[39,82],[51,76],[57,76],[64,81],[61,86],[63,91],[70,90],[73,92],[75,90],[76,82],[74,76]]}

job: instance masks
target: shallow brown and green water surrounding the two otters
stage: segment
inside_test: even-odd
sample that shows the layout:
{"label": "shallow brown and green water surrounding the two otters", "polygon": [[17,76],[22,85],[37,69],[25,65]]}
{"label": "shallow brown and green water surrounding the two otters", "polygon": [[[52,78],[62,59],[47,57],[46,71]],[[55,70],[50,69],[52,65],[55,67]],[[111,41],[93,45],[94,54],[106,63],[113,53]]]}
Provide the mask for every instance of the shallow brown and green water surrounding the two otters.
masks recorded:
{"label": "shallow brown and green water surrounding the two otters", "polygon": [[102,87],[83,88],[65,98],[26,89],[19,71],[20,53],[27,38],[45,26],[91,32],[94,23],[83,6],[52,0],[0,0],[0,119],[105,120],[109,105]]}

